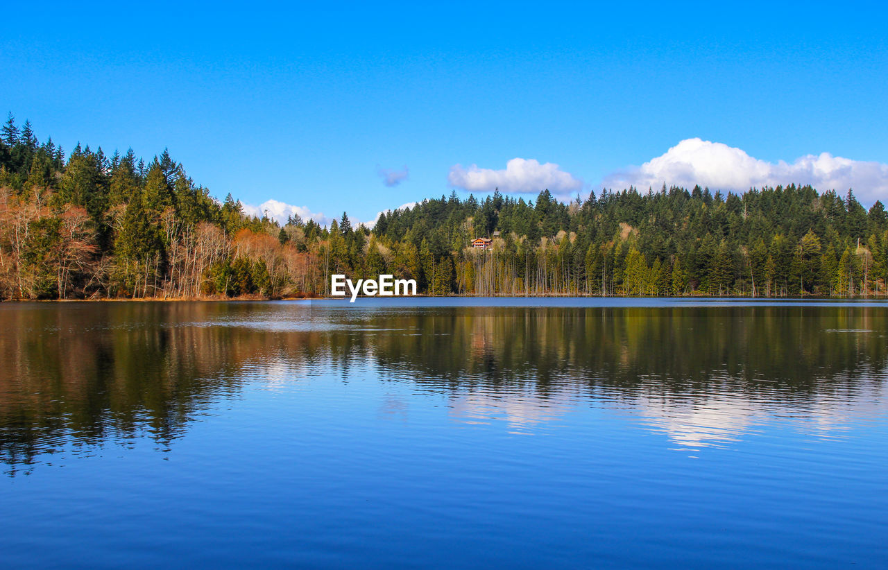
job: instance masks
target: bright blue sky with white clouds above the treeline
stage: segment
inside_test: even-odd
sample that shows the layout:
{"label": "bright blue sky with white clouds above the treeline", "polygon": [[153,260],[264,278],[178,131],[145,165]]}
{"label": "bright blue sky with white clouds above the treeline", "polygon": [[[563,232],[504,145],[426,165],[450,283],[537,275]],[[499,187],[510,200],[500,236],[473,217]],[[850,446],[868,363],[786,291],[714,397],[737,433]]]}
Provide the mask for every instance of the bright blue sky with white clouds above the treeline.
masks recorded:
{"label": "bright blue sky with white clouds above the treeline", "polygon": [[4,8],[2,111],[67,150],[169,147],[256,206],[369,220],[457,186],[662,178],[886,201],[875,3],[24,4]]}

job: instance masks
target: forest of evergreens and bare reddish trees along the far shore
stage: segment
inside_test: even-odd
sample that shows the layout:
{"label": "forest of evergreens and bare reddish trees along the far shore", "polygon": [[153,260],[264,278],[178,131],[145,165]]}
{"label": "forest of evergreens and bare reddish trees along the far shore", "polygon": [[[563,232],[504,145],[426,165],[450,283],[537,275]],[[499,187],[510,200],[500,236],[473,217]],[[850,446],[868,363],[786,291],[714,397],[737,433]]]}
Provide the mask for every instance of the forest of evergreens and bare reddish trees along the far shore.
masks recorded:
{"label": "forest of evergreens and bare reddish trees along the far shore", "polygon": [[372,229],[345,212],[281,224],[214,199],[166,150],[66,155],[12,114],[0,132],[0,299],[318,297],[332,273],[426,295],[877,297],[888,213],[851,189],[664,184],[570,202],[453,191]]}

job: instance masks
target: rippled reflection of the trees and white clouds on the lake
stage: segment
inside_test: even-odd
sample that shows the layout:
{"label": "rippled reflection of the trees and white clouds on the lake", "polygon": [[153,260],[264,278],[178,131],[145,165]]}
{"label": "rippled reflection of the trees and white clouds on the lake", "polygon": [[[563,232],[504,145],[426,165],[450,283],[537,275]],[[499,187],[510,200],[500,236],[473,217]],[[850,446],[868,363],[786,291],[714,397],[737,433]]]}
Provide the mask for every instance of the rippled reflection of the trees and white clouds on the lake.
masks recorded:
{"label": "rippled reflection of the trees and white clouds on the lake", "polygon": [[[140,436],[159,448],[237,398],[335,375],[438,394],[453,422],[543,431],[599,408],[670,445],[884,416],[884,306],[107,303],[0,307],[0,456],[12,467]],[[406,421],[393,394],[379,417]],[[335,418],[333,418],[335,420]],[[47,455],[49,456],[49,455]]]}

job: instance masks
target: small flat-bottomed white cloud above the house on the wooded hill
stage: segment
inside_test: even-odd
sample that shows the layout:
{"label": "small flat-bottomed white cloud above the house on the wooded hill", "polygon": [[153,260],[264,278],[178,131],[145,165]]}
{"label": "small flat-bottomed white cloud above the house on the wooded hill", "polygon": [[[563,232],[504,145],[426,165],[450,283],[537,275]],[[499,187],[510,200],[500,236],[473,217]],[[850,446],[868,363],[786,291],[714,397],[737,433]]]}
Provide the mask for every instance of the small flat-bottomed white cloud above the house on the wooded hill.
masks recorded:
{"label": "small flat-bottomed white cloud above the house on the wooded hill", "polygon": [[462,164],[455,164],[447,179],[451,186],[469,192],[493,192],[499,188],[503,193],[536,194],[548,189],[553,194],[567,195],[583,187],[582,180],[559,170],[558,164],[540,164],[532,158],[513,158],[506,163],[505,170],[478,168],[477,164],[465,169]]}

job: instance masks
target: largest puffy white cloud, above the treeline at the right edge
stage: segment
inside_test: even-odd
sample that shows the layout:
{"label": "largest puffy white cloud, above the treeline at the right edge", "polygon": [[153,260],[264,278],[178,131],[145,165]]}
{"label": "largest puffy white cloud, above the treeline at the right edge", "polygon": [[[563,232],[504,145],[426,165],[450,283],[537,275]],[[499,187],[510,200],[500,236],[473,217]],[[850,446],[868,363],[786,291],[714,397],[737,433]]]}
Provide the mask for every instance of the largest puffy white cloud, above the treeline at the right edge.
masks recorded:
{"label": "largest puffy white cloud, above the treeline at the right edge", "polygon": [[844,193],[853,188],[860,202],[885,202],[888,164],[854,161],[829,153],[806,154],[794,162],[765,162],[740,148],[702,139],[685,139],[662,156],[605,178],[602,186],[622,189],[630,185],[646,190],[662,186],[709,186],[745,192],[750,187],[810,184],[818,191]]}

